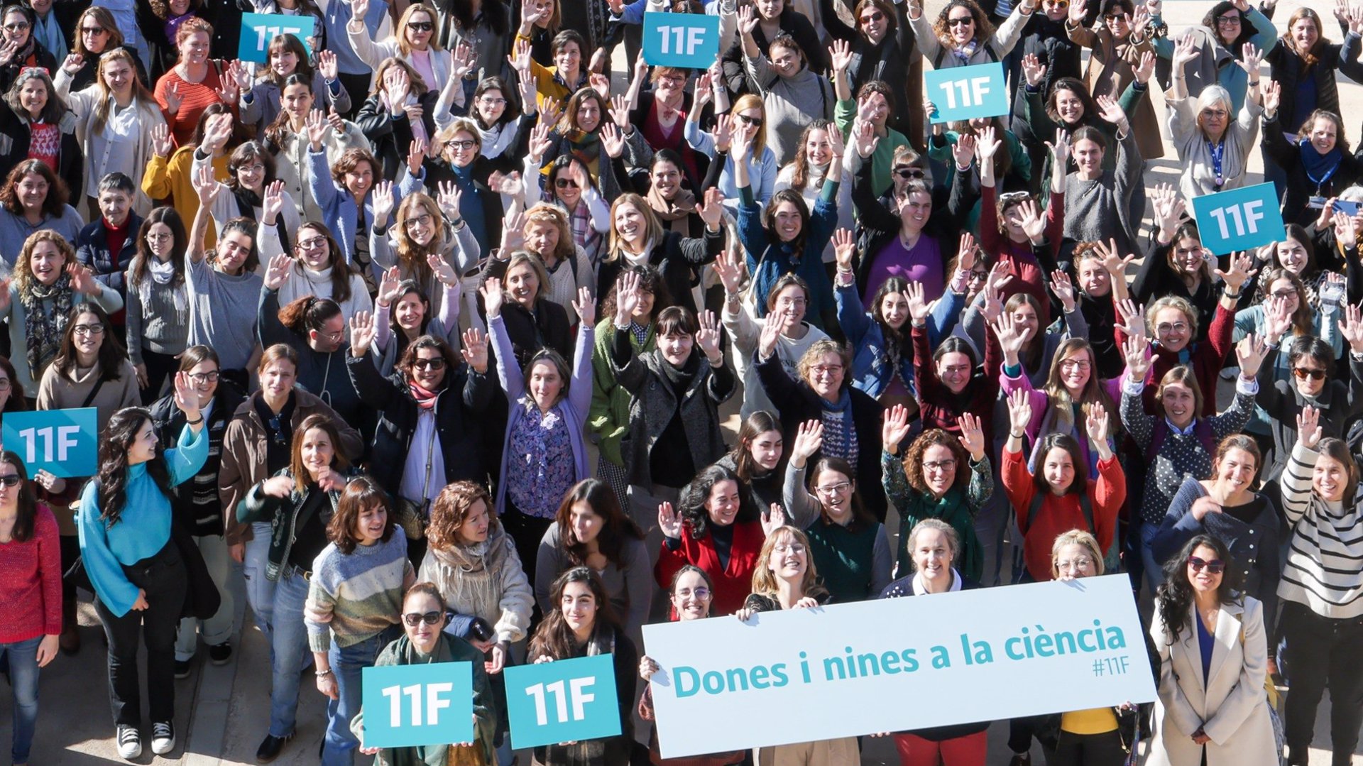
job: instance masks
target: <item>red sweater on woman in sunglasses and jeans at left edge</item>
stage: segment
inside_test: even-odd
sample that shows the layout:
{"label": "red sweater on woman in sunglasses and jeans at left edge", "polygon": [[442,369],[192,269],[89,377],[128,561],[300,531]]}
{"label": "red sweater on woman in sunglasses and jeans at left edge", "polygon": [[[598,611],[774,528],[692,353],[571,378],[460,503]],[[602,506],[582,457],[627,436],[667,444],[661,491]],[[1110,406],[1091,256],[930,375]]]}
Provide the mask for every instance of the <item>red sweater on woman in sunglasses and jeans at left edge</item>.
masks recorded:
{"label": "red sweater on woman in sunglasses and jeans at left edge", "polygon": [[61,632],[61,547],[57,519],[38,503],[33,537],[0,542],[0,643]]}

